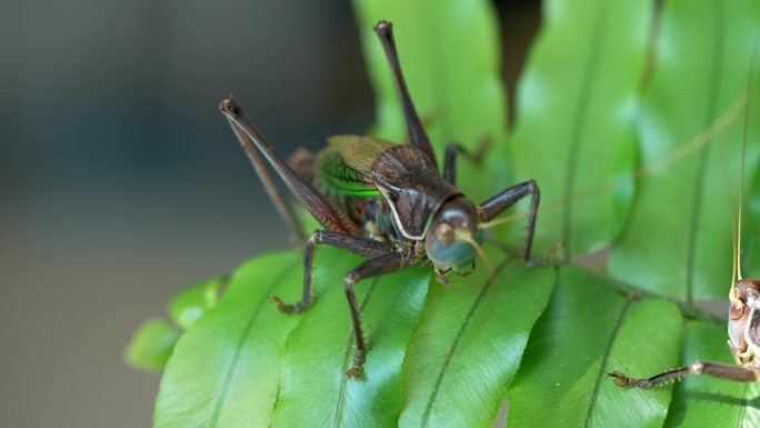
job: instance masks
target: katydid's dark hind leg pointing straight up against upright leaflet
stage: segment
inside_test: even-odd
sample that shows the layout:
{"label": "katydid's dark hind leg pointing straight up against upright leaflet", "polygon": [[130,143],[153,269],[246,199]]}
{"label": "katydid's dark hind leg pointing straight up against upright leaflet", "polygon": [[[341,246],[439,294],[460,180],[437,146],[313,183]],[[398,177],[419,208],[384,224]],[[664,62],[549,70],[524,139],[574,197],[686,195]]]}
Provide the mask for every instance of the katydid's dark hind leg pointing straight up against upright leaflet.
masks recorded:
{"label": "katydid's dark hind leg pointing straight up against upright leaflet", "polygon": [[393,72],[393,81],[396,82],[396,90],[399,92],[399,98],[401,99],[401,107],[403,108],[403,116],[407,119],[409,138],[411,139],[412,146],[422,150],[422,152],[432,160],[433,165],[438,166],[432,146],[430,146],[430,139],[424,131],[420,117],[417,115],[414,103],[412,103],[411,96],[409,94],[409,89],[407,89],[407,82],[403,80],[403,74],[401,73],[399,54],[396,50],[396,42],[393,41],[393,26],[388,21],[380,21],[374,26],[374,32],[378,34],[382,49],[386,51],[388,62],[390,62],[391,71]]}

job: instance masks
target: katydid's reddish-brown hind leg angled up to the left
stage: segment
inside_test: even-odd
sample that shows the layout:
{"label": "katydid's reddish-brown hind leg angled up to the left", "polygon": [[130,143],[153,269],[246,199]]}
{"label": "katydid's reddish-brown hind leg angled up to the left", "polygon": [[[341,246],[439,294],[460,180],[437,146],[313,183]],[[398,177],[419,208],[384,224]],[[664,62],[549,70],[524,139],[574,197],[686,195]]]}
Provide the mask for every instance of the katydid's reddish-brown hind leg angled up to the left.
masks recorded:
{"label": "katydid's reddish-brown hind leg angled up to the left", "polygon": [[237,128],[236,135],[238,135],[239,131],[248,137],[240,140],[243,150],[246,150],[247,153],[251,152],[253,151],[253,146],[256,146],[301,205],[303,205],[303,207],[309,210],[326,229],[353,235],[359,235],[361,232],[359,227],[354,225],[346,213],[333,208],[311,185],[303,182],[277,152],[274,152],[272,145],[270,145],[261,132],[256,129],[231,96],[227,97],[221,102],[219,109],[224,113],[230,123]]}

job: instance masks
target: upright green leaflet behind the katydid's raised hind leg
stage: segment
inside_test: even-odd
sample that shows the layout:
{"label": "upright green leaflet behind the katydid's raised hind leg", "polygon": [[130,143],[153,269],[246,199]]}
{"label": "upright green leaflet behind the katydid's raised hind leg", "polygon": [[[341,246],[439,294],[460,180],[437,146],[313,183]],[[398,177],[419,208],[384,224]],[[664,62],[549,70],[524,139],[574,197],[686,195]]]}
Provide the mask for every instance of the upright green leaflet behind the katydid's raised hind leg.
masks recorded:
{"label": "upright green leaflet behind the katydid's raised hind leg", "polygon": [[[491,149],[504,143],[507,92],[501,81],[498,20],[486,0],[354,0],[368,72],[376,96],[377,121],[371,135],[409,141],[390,67],[372,26],[391,21],[401,68],[417,110],[436,149],[459,142],[474,150],[483,141]],[[461,187],[478,200],[504,183],[506,162],[492,156],[499,180],[471,180],[478,170],[460,161]],[[488,155],[487,155],[488,158]],[[490,186],[483,186],[489,182]]]}

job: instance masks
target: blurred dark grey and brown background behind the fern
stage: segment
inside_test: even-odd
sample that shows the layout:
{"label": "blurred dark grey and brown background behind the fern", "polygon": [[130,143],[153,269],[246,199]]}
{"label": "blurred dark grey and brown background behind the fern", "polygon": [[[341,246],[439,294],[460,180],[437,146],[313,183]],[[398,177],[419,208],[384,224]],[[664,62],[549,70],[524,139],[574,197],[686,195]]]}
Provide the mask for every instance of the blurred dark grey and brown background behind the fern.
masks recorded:
{"label": "blurred dark grey and brown background behind the fern", "polygon": [[[513,93],[539,4],[494,4]],[[150,426],[133,329],[287,246],[219,100],[319,148],[370,125],[363,67],[348,1],[0,0],[0,426]]]}

